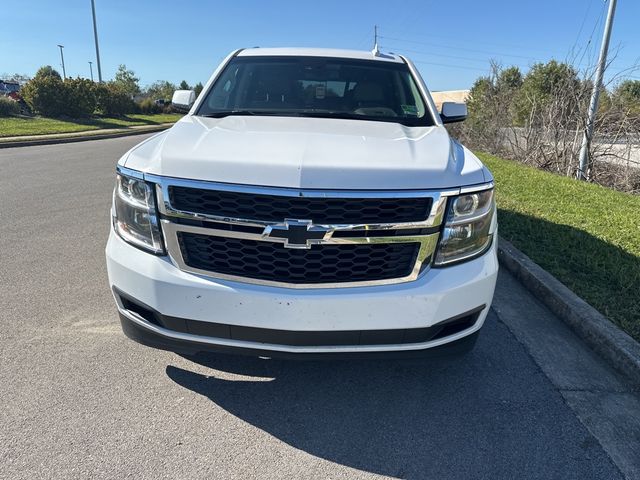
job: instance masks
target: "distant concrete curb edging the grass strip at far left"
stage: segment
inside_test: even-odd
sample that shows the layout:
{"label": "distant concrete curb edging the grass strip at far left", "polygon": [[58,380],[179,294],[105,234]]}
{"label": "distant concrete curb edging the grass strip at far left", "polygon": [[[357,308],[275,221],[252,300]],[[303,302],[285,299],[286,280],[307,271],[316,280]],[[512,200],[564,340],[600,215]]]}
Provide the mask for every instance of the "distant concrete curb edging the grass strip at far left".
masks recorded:
{"label": "distant concrete curb edging the grass strip at far left", "polygon": [[82,142],[101,138],[124,137],[143,133],[159,132],[171,127],[173,123],[159,125],[137,125],[123,128],[103,128],[84,132],[53,133],[48,135],[21,135],[17,137],[0,138],[0,148],[27,147],[31,145],[49,145],[54,143]]}

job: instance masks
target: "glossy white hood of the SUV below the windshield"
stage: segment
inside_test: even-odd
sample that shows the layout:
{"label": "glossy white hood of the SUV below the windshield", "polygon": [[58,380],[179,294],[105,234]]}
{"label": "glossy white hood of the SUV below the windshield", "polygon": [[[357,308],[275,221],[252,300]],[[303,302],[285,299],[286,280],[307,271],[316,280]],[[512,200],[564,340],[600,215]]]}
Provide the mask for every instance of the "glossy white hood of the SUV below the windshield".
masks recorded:
{"label": "glossy white hood of the SUV below the windshield", "polygon": [[184,117],[125,166],[168,177],[289,188],[444,189],[485,181],[443,127],[300,117]]}

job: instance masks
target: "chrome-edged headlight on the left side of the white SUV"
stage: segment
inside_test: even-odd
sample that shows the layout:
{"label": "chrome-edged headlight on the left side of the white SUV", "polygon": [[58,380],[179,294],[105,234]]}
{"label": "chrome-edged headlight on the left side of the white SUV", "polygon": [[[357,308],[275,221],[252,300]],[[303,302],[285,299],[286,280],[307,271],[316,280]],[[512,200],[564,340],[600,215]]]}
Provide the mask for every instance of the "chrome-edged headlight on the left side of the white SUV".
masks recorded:
{"label": "chrome-edged headlight on the left side of the white SUV", "polygon": [[124,241],[155,254],[165,253],[152,185],[118,174],[112,214],[113,228]]}

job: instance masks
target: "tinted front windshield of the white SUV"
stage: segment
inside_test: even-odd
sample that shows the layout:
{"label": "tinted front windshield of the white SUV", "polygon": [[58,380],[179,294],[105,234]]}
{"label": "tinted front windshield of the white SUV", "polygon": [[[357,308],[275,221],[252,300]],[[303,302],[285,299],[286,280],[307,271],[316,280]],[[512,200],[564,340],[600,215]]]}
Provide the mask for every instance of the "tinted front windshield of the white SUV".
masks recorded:
{"label": "tinted front windshield of the white SUV", "polygon": [[235,57],[196,114],[353,118],[433,125],[406,64],[323,57]]}

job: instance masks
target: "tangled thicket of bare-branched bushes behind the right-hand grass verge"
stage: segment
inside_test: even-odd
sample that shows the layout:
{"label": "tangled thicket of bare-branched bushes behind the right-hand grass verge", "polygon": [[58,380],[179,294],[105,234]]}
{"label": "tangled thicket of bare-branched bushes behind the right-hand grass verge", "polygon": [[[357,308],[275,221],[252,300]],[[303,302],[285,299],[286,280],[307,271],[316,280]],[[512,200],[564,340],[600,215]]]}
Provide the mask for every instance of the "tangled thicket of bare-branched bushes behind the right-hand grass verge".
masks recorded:
{"label": "tangled thicket of bare-branched bushes behind the right-hand grass verge", "polygon": [[[520,80],[517,67],[494,63],[491,70],[474,84],[469,119],[452,128],[453,135],[472,148],[575,176],[593,88],[591,72],[579,73],[556,61],[533,65]],[[589,180],[639,193],[640,109],[605,88],[594,132]]]}

